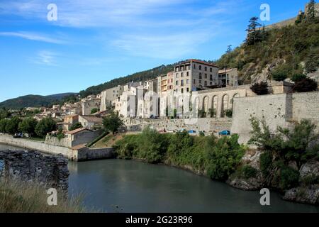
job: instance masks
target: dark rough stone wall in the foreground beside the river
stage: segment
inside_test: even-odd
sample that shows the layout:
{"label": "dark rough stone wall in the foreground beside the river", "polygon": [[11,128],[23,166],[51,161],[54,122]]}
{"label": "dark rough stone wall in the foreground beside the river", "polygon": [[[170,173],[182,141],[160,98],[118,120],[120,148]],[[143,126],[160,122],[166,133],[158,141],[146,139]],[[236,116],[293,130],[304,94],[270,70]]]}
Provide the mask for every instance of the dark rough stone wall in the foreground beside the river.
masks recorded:
{"label": "dark rough stone wall in the foreground beside the river", "polygon": [[63,192],[68,189],[69,170],[62,155],[43,155],[35,151],[0,151],[4,166],[1,177],[17,178],[25,182],[35,181]]}

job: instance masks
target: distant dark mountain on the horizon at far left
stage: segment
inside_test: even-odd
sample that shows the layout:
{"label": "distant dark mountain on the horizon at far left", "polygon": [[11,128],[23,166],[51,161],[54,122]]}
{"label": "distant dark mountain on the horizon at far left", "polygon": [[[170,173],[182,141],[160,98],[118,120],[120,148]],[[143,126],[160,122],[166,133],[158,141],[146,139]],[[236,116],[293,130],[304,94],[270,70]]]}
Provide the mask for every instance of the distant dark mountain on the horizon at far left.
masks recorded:
{"label": "distant dark mountain on the horizon at far left", "polygon": [[20,96],[15,99],[8,99],[0,103],[1,107],[9,109],[21,109],[25,107],[41,107],[50,106],[54,102],[61,101],[67,96],[76,95],[77,93],[63,93],[63,94],[52,94],[48,96],[33,95],[29,94],[26,96]]}

